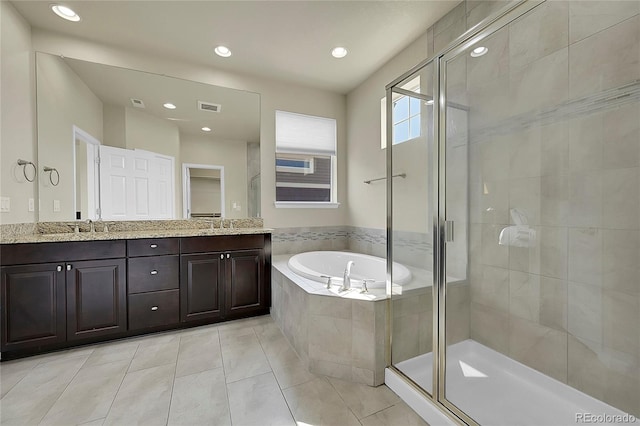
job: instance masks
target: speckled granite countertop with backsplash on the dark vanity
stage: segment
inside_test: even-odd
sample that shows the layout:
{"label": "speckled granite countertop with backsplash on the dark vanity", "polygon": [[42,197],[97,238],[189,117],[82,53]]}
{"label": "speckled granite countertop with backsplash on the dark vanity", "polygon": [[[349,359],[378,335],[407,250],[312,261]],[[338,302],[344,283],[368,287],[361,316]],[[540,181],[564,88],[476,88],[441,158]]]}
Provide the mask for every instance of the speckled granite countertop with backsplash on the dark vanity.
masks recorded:
{"label": "speckled granite countertop with backsplash on the dark vanity", "polygon": [[220,222],[216,220],[212,228],[211,222],[205,221],[107,222],[108,232],[103,231],[102,222],[96,222],[97,232],[90,232],[86,223],[80,224],[80,232],[73,232],[70,226],[73,227],[74,222],[3,225],[0,244],[252,235],[269,234],[273,231],[262,227],[261,219],[238,220],[234,223],[238,225],[231,228],[230,221],[225,219],[225,227],[220,228]]}

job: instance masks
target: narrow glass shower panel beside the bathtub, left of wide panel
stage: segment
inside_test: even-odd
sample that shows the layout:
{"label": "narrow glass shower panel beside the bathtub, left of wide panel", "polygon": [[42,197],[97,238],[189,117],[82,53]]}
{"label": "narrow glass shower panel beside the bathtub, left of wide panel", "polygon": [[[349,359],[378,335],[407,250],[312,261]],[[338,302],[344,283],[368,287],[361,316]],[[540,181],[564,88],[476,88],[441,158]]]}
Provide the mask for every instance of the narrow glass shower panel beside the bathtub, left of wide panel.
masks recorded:
{"label": "narrow glass shower panel beside the bathtub, left of wide panel", "polygon": [[[432,392],[433,64],[387,91],[391,364]],[[406,270],[410,278],[406,279]]]}

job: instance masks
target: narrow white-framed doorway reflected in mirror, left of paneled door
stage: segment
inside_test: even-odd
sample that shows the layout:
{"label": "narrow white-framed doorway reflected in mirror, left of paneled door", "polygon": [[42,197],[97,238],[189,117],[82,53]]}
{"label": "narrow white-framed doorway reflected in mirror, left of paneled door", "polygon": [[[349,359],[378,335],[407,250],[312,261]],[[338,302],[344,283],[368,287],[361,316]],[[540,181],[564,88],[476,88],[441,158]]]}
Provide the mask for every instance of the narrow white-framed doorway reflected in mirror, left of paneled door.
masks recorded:
{"label": "narrow white-framed doorway reflected in mirror, left of paneled door", "polygon": [[78,220],[100,218],[99,170],[97,164],[100,141],[77,126],[73,126],[74,211]]}

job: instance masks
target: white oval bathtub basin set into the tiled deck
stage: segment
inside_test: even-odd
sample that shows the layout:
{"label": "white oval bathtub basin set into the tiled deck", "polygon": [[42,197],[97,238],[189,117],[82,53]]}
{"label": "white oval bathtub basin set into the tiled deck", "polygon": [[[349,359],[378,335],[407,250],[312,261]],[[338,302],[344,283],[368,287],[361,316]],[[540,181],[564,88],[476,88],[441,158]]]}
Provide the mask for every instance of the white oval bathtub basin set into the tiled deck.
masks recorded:
{"label": "white oval bathtub basin set into the tiled deck", "polygon": [[[313,281],[342,285],[345,269],[351,267],[351,285],[368,288],[386,288],[387,261],[381,257],[345,251],[311,251],[299,253],[289,259],[289,268],[296,274]],[[404,265],[393,263],[393,283],[402,286],[411,281],[411,271]]]}

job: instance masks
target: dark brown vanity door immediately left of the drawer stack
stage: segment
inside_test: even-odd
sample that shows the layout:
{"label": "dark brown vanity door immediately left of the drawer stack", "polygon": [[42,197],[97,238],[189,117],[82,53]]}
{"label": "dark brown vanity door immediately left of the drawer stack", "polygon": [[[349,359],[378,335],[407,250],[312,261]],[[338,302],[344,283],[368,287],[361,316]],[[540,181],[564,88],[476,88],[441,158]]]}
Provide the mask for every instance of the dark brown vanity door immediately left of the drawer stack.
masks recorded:
{"label": "dark brown vanity door immediately left of the drawer stack", "polygon": [[68,340],[126,331],[125,268],[125,259],[66,264]]}

